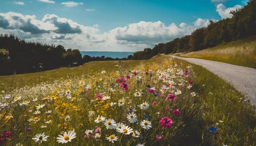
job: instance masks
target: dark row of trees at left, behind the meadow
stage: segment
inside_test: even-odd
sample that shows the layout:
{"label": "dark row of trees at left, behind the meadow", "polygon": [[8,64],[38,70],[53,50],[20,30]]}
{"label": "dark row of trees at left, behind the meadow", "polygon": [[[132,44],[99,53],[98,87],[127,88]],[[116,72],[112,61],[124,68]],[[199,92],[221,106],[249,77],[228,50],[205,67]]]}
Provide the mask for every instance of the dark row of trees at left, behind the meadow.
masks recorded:
{"label": "dark row of trees at left, behind the meadow", "polygon": [[0,35],[0,75],[47,71],[99,60],[126,60],[126,58],[90,57],[88,55],[82,58],[78,49],[26,42],[12,34]]}

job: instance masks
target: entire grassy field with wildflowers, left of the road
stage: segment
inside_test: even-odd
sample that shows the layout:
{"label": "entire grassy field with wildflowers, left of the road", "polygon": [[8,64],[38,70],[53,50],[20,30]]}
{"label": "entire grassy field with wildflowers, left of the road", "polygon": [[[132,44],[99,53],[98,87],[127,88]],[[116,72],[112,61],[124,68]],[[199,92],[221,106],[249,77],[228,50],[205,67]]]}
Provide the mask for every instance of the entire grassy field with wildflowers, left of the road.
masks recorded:
{"label": "entire grassy field with wildflowers, left of the road", "polygon": [[[245,97],[206,69],[165,55],[0,81],[1,144],[60,145],[60,137],[67,145],[254,145],[255,110]],[[120,130],[110,127],[114,120]]]}

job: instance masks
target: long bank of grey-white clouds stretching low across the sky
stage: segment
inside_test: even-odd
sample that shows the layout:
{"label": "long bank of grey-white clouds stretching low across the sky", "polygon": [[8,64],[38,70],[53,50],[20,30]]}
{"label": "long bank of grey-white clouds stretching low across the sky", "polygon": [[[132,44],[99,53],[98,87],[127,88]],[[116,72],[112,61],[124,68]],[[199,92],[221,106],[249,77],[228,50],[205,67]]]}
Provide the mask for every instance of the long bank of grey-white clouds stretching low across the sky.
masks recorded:
{"label": "long bank of grey-white clouds stretching low across the sky", "polygon": [[98,24],[84,26],[71,19],[47,14],[43,19],[21,13],[0,13],[0,32],[14,33],[27,41],[39,41],[80,50],[138,51],[188,35],[208,25],[208,19],[198,18],[193,24],[164,24],[162,21],[140,21],[108,32]]}

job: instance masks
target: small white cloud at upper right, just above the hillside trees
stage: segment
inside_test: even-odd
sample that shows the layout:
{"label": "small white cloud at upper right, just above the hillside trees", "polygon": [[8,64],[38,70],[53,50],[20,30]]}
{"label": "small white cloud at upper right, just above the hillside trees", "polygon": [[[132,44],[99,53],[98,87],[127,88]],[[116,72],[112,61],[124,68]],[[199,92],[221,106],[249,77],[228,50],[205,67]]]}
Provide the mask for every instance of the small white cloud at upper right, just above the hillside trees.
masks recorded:
{"label": "small white cloud at upper right, just above the hillside trees", "polygon": [[216,11],[219,13],[222,19],[232,18],[232,14],[230,13],[232,10],[240,9],[241,5],[235,5],[234,7],[226,7],[224,4],[218,4]]}

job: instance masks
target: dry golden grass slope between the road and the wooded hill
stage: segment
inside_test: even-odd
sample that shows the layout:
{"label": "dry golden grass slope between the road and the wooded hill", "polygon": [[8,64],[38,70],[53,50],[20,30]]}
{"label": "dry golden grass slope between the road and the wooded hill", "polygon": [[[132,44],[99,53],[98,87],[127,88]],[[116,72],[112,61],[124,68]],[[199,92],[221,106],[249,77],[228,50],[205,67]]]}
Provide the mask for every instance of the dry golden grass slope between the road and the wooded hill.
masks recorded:
{"label": "dry golden grass slope between the road and the wooded hill", "polygon": [[201,58],[256,68],[256,36],[220,44],[209,49],[179,54],[179,56]]}

